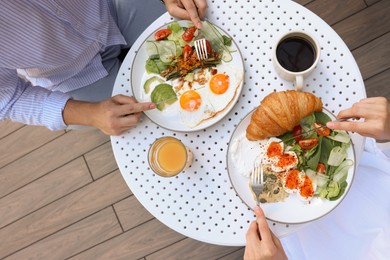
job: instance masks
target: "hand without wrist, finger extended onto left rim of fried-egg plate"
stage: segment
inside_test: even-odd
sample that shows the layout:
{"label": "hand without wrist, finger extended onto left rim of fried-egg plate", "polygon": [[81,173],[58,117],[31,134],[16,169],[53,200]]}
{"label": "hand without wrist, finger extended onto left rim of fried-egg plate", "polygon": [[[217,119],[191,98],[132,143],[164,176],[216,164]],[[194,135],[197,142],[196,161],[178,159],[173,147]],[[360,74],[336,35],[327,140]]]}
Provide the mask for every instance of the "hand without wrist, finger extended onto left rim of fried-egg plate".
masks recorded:
{"label": "hand without wrist, finger extended onto left rim of fried-egg plate", "polygon": [[93,125],[107,135],[120,135],[139,123],[142,111],[155,107],[151,102],[138,103],[133,97],[116,95],[97,103]]}

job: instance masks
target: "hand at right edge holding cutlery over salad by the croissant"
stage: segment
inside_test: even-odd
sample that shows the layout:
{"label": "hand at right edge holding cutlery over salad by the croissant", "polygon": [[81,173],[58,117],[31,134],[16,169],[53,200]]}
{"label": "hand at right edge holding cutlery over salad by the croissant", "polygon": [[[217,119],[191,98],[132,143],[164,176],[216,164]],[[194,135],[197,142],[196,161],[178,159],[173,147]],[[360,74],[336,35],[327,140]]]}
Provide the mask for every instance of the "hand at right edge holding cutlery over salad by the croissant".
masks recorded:
{"label": "hand at right edge holding cutlery over salad by the croissant", "polygon": [[331,129],[356,132],[376,140],[390,140],[390,105],[384,97],[365,98],[341,111],[337,118],[364,118],[364,122],[329,122]]}

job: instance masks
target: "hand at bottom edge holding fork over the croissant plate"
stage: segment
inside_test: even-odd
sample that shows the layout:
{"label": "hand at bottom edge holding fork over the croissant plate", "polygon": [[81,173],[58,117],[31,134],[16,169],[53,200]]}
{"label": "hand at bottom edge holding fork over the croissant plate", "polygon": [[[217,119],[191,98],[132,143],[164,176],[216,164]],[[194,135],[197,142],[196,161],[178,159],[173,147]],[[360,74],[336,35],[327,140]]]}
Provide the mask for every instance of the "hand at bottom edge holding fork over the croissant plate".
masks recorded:
{"label": "hand at bottom edge holding fork over the croissant plate", "polygon": [[287,259],[282,243],[270,230],[263,210],[254,208],[256,221],[249,226],[246,234],[245,260]]}

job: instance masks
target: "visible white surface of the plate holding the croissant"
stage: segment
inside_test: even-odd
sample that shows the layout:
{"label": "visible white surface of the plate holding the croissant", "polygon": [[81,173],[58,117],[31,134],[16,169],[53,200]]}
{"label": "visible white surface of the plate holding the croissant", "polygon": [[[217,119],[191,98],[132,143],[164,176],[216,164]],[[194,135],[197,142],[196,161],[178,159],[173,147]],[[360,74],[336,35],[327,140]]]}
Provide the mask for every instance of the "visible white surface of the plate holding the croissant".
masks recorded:
{"label": "visible white surface of the plate holding the croissant", "polygon": [[[332,118],[332,120],[335,118],[334,115],[332,115],[329,111],[325,109],[323,111],[327,113]],[[230,139],[229,148],[227,152],[227,166],[230,181],[242,201],[252,209],[256,203],[249,189],[249,179],[238,173],[238,169],[235,167],[231,156],[231,144],[232,141],[235,140],[235,138],[246,132],[246,128],[250,123],[253,112],[254,110],[251,111],[248,115],[246,115],[245,118],[235,129],[232,138]],[[248,155],[248,157],[251,158],[253,156]],[[291,194],[283,202],[261,204],[261,207],[264,210],[267,219],[286,224],[300,224],[321,218],[331,212],[334,208],[337,207],[337,205],[341,203],[343,198],[348,194],[348,191],[352,185],[356,164],[353,144],[351,144],[350,148],[348,149],[347,158],[353,160],[354,166],[351,167],[348,171],[348,186],[341,198],[336,201],[313,198],[308,204],[307,202],[304,202],[299,199],[296,194]]]}

